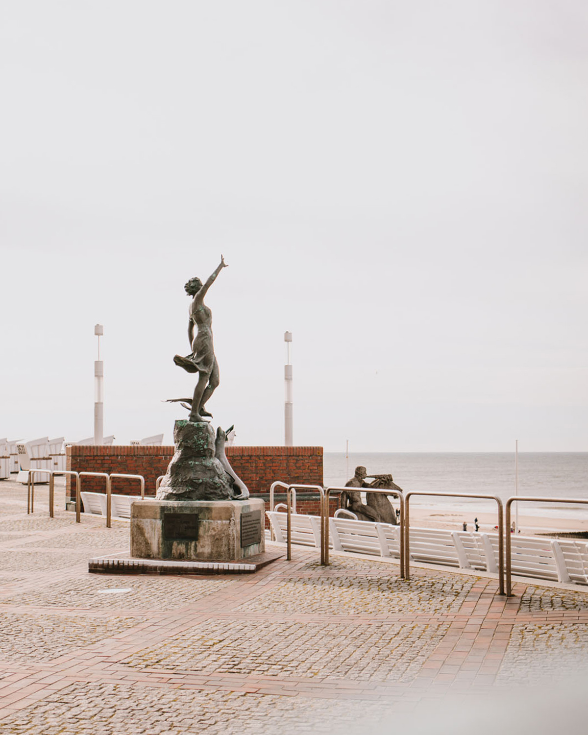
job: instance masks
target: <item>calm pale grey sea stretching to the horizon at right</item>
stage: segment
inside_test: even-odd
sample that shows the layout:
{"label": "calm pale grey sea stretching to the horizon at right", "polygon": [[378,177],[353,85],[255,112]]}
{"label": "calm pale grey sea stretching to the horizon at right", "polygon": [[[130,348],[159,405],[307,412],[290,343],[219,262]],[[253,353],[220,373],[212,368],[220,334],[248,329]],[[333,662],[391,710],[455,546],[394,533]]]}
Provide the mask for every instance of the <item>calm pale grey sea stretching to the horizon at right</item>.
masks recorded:
{"label": "calm pale grey sea stretching to the horizon at right", "polygon": [[[498,495],[503,501],[515,494],[513,453],[350,453],[326,452],[325,486],[344,485],[363,465],[368,473],[390,474],[404,492],[470,492]],[[588,452],[519,452],[518,495],[588,500]],[[444,512],[493,511],[492,501],[467,498],[419,498],[411,503],[442,506]],[[513,506],[514,510],[514,506]],[[588,505],[520,503],[519,512],[551,517],[587,517]]]}

